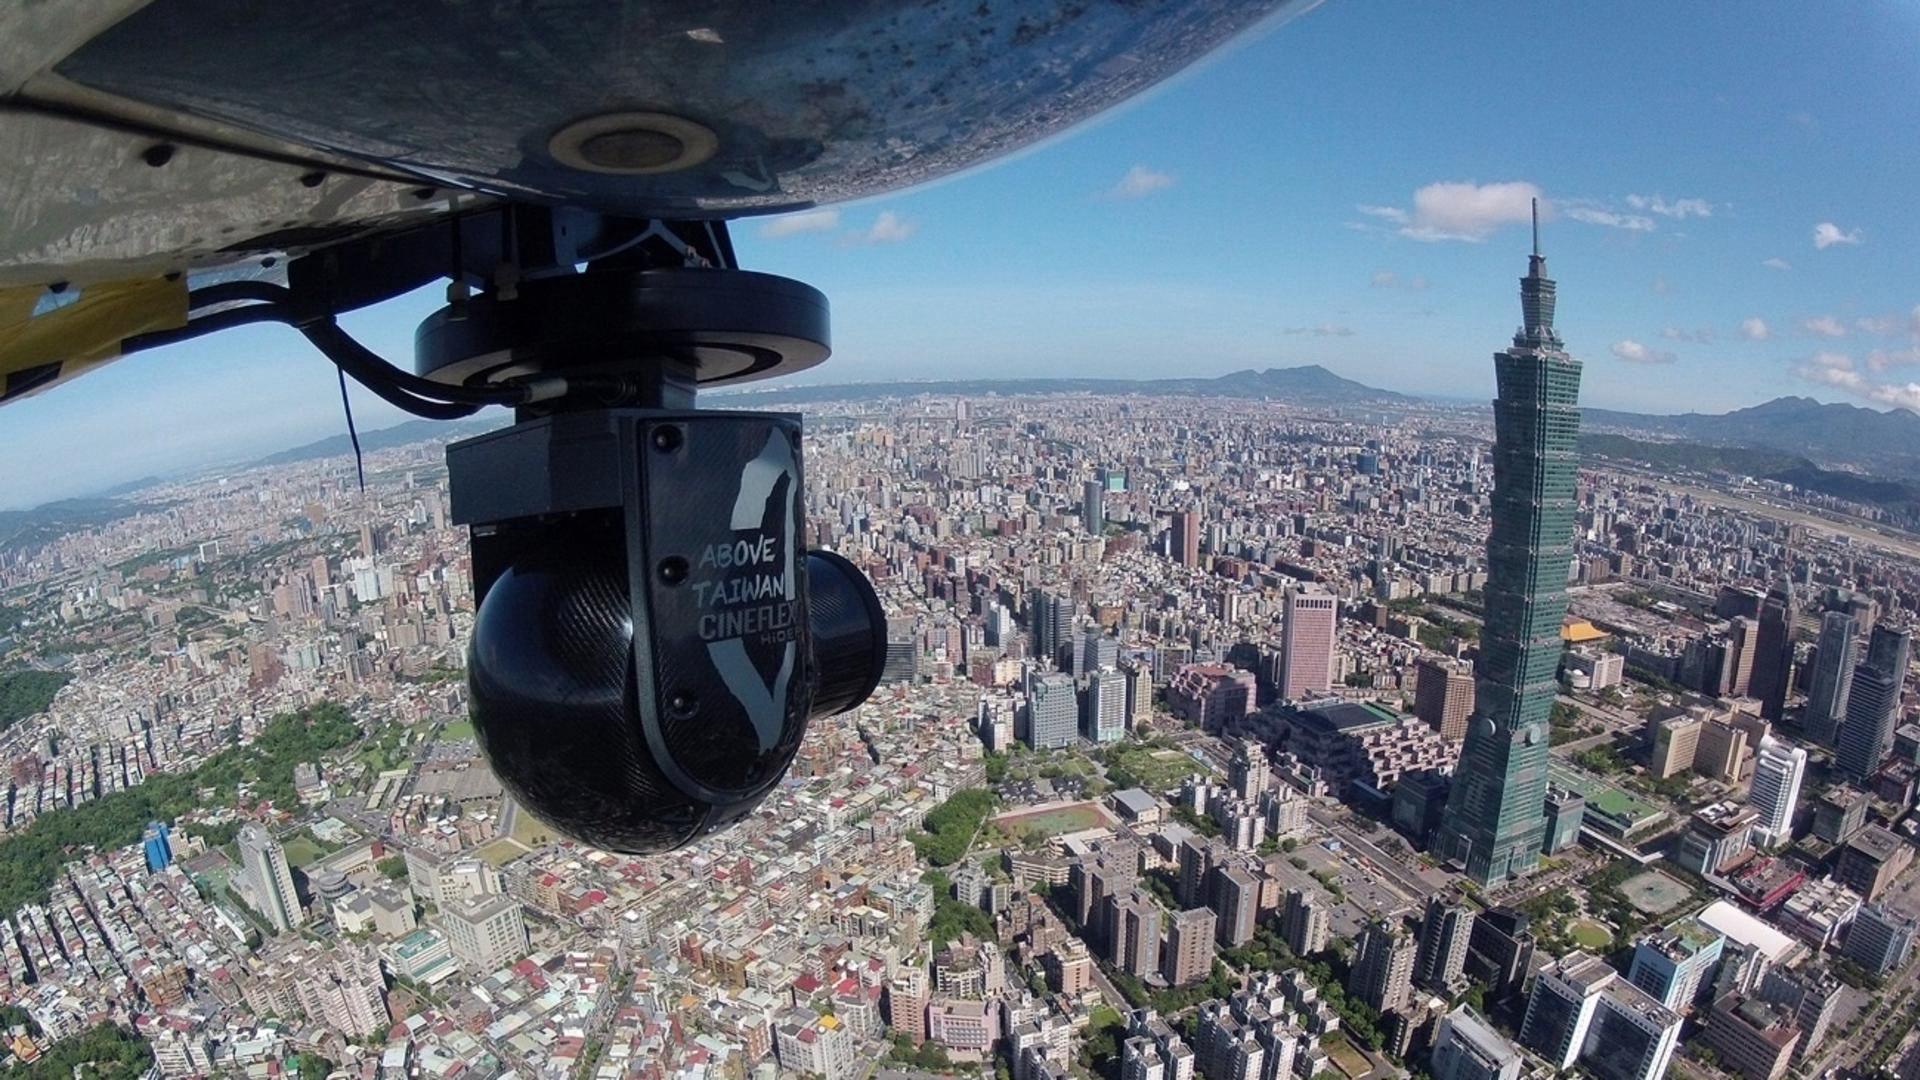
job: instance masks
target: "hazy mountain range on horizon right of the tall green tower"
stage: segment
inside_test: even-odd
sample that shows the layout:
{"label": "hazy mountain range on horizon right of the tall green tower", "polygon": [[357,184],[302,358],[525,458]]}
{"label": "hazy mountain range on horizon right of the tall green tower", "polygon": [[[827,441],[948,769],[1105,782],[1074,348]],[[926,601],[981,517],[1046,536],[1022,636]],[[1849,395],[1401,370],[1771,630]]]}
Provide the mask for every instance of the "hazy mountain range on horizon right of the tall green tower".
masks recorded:
{"label": "hazy mountain range on horizon right of the tall green tower", "polygon": [[1711,446],[1780,450],[1822,467],[1845,465],[1893,477],[1920,473],[1920,415],[1812,398],[1774,398],[1730,413],[1617,413],[1584,409],[1584,430],[1684,438]]}

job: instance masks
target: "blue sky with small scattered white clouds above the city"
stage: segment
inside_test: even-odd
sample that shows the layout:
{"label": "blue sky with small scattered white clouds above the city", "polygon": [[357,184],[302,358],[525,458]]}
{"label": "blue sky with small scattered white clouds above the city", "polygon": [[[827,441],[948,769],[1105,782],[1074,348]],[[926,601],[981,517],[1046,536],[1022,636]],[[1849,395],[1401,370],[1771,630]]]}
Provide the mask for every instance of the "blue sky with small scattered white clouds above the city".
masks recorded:
{"label": "blue sky with small scattered white clouds above the city", "polygon": [[[1331,0],[1010,161],[733,234],[831,298],[806,380],[1323,363],[1484,400],[1538,194],[1584,402],[1920,409],[1914,192],[1914,2]],[[436,302],[346,323],[405,359]],[[0,423],[0,505],[342,430],[332,369],[282,329]]]}

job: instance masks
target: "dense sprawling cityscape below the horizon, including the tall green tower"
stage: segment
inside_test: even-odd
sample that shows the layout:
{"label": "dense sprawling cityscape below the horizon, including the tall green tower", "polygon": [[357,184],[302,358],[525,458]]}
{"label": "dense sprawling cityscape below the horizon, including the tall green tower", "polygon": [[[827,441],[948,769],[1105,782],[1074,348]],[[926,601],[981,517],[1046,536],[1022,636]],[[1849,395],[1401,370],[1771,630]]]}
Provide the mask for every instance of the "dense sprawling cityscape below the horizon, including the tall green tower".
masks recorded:
{"label": "dense sprawling cityscape below the horizon, including the tall green tower", "polygon": [[482,759],[445,429],[15,536],[10,1068],[1916,1080],[1920,548],[1584,454],[1553,317],[1536,223],[1490,411],[810,392],[883,684],[664,855]]}

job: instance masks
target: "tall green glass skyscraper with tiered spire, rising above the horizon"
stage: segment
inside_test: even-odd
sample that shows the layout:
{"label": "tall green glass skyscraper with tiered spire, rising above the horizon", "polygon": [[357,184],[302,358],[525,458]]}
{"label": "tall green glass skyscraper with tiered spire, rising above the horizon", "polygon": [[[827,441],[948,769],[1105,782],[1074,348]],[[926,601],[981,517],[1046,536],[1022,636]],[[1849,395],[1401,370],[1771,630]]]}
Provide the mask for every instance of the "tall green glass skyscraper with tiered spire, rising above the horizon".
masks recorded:
{"label": "tall green glass skyscraper with tiered spire, rising above the horizon", "polygon": [[1540,861],[1546,832],[1548,709],[1553,705],[1572,565],[1580,361],[1553,331],[1553,281],[1540,256],[1521,279],[1524,325],[1494,354],[1494,530],[1486,540],[1486,626],[1440,851],[1480,884]]}

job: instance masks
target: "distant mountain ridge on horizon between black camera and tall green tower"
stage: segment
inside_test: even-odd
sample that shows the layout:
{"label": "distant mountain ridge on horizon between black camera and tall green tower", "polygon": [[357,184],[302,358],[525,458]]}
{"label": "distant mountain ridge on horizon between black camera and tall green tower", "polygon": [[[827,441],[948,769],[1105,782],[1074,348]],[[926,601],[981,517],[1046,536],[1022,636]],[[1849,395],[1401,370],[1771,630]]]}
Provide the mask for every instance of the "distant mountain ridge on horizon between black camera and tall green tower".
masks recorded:
{"label": "distant mountain ridge on horizon between black camera and tall green tower", "polygon": [[983,398],[989,394],[1142,394],[1188,398],[1248,398],[1302,405],[1407,404],[1415,398],[1342,379],[1317,363],[1235,371],[1215,379],[964,379],[945,382],[835,382],[820,386],[772,386],[708,400],[760,404],[872,402],[918,396]]}

